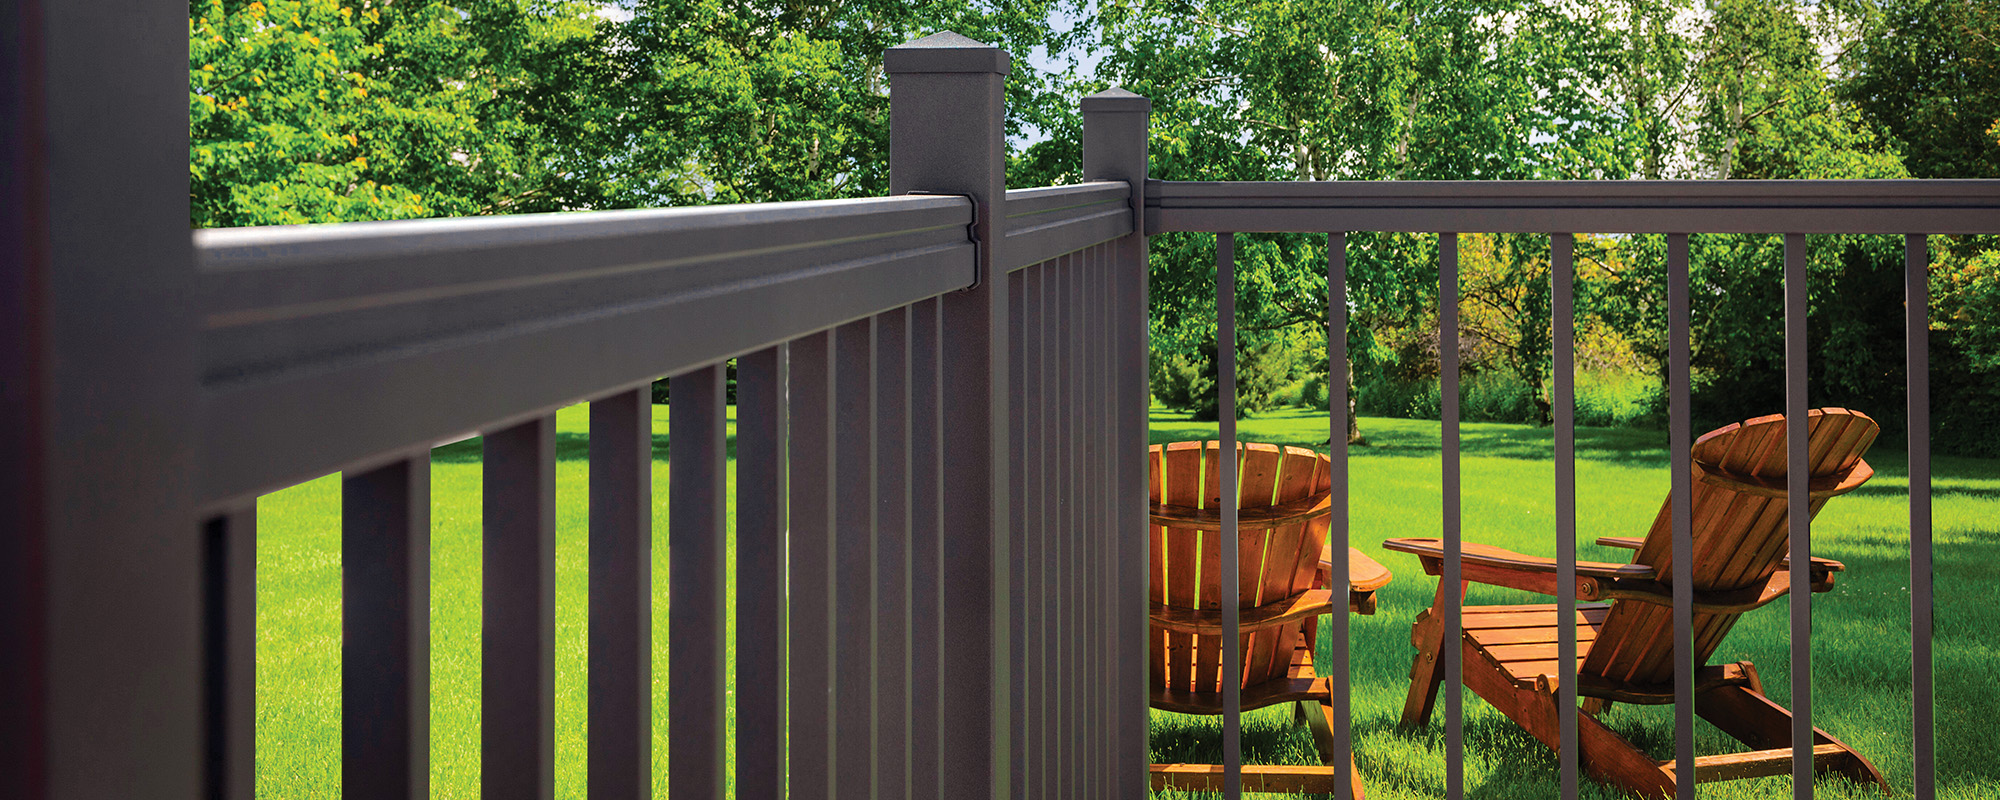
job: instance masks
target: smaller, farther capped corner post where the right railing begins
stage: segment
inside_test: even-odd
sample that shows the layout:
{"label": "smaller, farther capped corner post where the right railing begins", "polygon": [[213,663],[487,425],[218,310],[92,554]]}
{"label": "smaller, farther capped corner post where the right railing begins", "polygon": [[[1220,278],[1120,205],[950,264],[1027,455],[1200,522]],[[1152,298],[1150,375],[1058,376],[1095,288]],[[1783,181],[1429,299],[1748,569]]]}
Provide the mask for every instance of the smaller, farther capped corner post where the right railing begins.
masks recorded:
{"label": "smaller, farther capped corner post where the right railing begins", "polygon": [[1084,98],[1084,180],[1124,180],[1132,184],[1132,232],[1110,242],[1112,254],[1112,456],[1116,482],[1118,562],[1114,592],[1114,634],[1118,658],[1110,680],[1112,700],[1112,792],[1118,798],[1146,794],[1146,408],[1152,386],[1146,374],[1150,348],[1146,328],[1146,128],[1152,100],[1122,88]]}

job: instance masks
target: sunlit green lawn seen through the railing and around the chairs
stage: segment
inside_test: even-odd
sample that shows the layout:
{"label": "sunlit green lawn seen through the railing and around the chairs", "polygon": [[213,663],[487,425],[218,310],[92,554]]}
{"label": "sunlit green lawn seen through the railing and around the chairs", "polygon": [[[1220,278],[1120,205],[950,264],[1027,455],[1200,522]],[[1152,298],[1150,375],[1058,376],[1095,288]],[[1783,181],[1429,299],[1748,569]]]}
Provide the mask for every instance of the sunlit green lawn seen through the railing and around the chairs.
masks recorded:
{"label": "sunlit green lawn seen through the railing and around the chairs", "polygon": [[[654,796],[666,796],[666,406],[654,406]],[[556,546],[556,794],[584,794],[586,486],[588,414],[566,408],[558,426]],[[1438,532],[1438,424],[1364,418],[1370,446],[1354,448],[1352,544],[1396,572],[1376,616],[1352,618],[1354,730],[1370,798],[1434,798],[1444,788],[1442,724],[1394,730],[1408,686],[1408,624],[1434,590],[1414,558],[1378,548],[1386,536]],[[1152,440],[1214,436],[1156,410]],[[1244,420],[1252,442],[1322,446],[1324,412],[1282,410]],[[1530,554],[1554,554],[1554,470],[1548,430],[1464,426],[1464,536]],[[480,446],[432,452],[432,796],[478,796],[480,746]],[[1578,532],[1584,558],[1616,558],[1588,544],[1636,536],[1666,496],[1664,434],[1578,430]],[[1832,502],[1814,524],[1814,552],[1844,560],[1832,594],[1814,598],[1814,722],[1860,748],[1900,794],[1910,792],[1910,632],[1906,472],[1898,448],[1870,454],[1878,476]],[[2000,796],[2000,610],[1974,598],[2000,582],[2000,460],[1936,460],[1938,542],[1938,776],[1944,798]],[[730,486],[734,502],[734,484]],[[340,796],[340,484],[338,476],[270,494],[258,504],[258,794]],[[734,548],[732,548],[734,552]],[[734,574],[734,570],[732,570]],[[1520,602],[1518,592],[1474,588],[1472,602]],[[730,610],[734,616],[734,608]],[[1736,626],[1714,660],[1754,660],[1774,698],[1788,698],[1788,618],[1770,606]],[[1324,638],[1324,634],[1322,634]],[[1328,642],[1320,642],[1326,650]],[[1440,712],[1442,714],[1442,712]],[[1548,798],[1554,756],[1466,692],[1468,798]],[[1658,758],[1672,748],[1672,710],[1616,706],[1608,724]],[[1700,730],[1700,752],[1726,740]],[[1218,718],[1152,714],[1156,760],[1220,758]],[[1310,738],[1282,708],[1244,716],[1250,762],[1312,762]],[[730,760],[734,764],[734,758]],[[1614,796],[1590,782],[1586,796]],[[1786,778],[1704,784],[1704,798],[1788,798]],[[1872,796],[1842,780],[1822,798]]]}

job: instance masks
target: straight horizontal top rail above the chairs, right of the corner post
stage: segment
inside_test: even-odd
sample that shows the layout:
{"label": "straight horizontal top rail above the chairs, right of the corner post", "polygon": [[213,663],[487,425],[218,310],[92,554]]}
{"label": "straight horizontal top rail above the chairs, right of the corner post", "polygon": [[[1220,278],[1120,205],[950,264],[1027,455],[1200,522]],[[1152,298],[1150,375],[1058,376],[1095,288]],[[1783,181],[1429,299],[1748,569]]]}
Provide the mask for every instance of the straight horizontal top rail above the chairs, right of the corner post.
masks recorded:
{"label": "straight horizontal top rail above the chairs, right of the corner post", "polygon": [[1988,234],[2000,180],[1148,182],[1174,230]]}

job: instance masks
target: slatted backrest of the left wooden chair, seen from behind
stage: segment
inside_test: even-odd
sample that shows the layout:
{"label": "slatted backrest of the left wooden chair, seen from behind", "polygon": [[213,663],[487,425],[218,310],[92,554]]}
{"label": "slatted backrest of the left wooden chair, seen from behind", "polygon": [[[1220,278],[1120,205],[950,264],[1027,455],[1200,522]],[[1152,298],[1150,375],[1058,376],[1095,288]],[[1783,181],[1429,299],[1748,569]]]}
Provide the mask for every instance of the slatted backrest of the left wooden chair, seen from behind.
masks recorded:
{"label": "slatted backrest of the left wooden chair, seen from behind", "polygon": [[[1214,610],[1222,606],[1218,508],[1222,500],[1220,442],[1174,442],[1152,446],[1152,602],[1174,608]],[[1238,448],[1236,498],[1238,576],[1228,582],[1238,592],[1242,614],[1284,602],[1312,588],[1330,524],[1330,460],[1304,448],[1242,444]],[[1340,592],[1340,600],[1346,594]],[[1344,610],[1344,606],[1342,606]],[[1268,628],[1244,626],[1244,686],[1284,678],[1292,654],[1312,646],[1304,634],[1312,618]],[[1220,692],[1222,638],[1150,632],[1152,688],[1184,694]]]}

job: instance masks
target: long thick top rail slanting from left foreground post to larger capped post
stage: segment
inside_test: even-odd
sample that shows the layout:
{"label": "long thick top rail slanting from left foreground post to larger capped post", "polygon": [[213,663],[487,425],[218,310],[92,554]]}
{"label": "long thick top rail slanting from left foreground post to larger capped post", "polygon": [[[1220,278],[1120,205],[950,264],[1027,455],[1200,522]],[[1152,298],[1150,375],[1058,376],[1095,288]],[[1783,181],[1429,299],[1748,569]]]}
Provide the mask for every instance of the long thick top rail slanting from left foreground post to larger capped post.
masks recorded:
{"label": "long thick top rail slanting from left foreground post to larger capped post", "polygon": [[956,196],[194,232],[200,498],[970,286]]}

